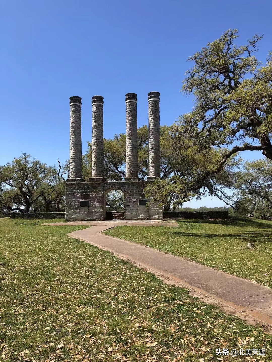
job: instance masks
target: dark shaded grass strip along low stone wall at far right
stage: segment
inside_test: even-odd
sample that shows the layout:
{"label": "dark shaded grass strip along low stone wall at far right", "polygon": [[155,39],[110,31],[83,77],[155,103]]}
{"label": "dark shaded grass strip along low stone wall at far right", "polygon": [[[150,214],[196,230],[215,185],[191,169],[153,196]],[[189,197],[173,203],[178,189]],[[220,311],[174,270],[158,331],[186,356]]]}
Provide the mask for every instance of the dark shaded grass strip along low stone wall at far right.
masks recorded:
{"label": "dark shaded grass strip along low stone wall at far right", "polygon": [[[261,220],[260,220],[261,221]],[[215,224],[215,225],[226,225],[226,226],[238,226],[238,227],[254,227],[257,229],[271,229],[271,223],[261,223],[257,220],[252,219],[243,219],[243,218],[236,218],[230,217],[229,219],[222,219],[222,220],[207,220],[207,219],[182,219],[179,220],[180,223],[197,223],[197,224]]]}

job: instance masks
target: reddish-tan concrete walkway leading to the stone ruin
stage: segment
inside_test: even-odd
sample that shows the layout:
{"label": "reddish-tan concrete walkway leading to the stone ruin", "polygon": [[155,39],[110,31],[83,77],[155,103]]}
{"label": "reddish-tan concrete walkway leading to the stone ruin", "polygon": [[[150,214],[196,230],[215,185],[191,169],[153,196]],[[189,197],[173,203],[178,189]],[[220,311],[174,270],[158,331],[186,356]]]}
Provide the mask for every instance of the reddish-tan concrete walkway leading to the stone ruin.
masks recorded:
{"label": "reddish-tan concrete walkway leading to the stone ruin", "polygon": [[136,263],[153,271],[156,275],[172,279],[174,283],[197,291],[207,302],[215,303],[227,312],[252,321],[258,320],[272,325],[272,289],[235,277],[207,266],[166,254],[143,245],[131,243],[101,234],[102,231],[119,225],[178,226],[164,221],[103,221],[69,222],[44,225],[93,226],[68,234],[75,239],[113,252],[122,259]]}

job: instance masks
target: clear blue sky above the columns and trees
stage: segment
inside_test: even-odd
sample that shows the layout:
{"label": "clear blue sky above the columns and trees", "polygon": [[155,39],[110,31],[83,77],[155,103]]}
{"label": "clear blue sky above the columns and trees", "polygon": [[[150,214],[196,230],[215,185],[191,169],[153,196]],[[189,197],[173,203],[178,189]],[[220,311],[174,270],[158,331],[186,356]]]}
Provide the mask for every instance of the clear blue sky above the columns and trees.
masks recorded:
{"label": "clear blue sky above the columns and trees", "polygon": [[[125,93],[138,94],[138,125],[148,121],[147,93],[161,93],[161,124],[189,111],[182,80],[188,56],[237,28],[238,43],[264,35],[272,50],[272,2],[19,1],[1,4],[0,164],[21,152],[48,164],[69,158],[69,97],[82,97],[82,146],[91,140],[91,97],[104,97],[104,136],[125,132]],[[244,153],[259,158],[259,153]],[[222,205],[209,198],[190,206]],[[187,205],[186,205],[187,206]]]}

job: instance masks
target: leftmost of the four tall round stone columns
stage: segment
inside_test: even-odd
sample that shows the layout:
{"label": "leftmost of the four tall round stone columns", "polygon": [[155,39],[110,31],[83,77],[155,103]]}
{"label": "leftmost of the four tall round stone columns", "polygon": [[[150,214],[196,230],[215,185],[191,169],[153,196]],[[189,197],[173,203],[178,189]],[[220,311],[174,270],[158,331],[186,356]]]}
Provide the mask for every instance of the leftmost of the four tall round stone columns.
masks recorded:
{"label": "leftmost of the four tall round stone columns", "polygon": [[69,182],[82,180],[81,97],[70,97],[70,174]]}

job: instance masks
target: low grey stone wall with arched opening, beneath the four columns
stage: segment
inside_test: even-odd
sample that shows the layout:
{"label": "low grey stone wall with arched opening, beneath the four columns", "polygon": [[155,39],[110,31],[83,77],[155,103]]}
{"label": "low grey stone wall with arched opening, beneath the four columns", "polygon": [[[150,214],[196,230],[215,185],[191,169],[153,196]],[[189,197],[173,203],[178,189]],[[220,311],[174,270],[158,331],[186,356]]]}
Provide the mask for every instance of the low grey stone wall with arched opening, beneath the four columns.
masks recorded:
{"label": "low grey stone wall with arched opening, beneath the four columns", "polygon": [[[162,208],[139,206],[145,199],[144,188],[152,181],[68,182],[66,184],[66,220],[103,220],[106,218],[106,194],[110,190],[124,193],[125,220],[162,220]],[[88,200],[89,206],[81,207],[80,201]]]}

